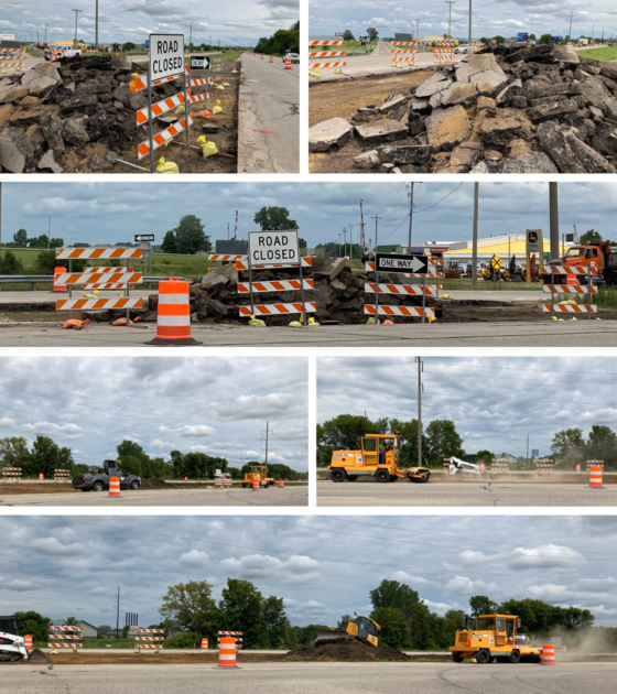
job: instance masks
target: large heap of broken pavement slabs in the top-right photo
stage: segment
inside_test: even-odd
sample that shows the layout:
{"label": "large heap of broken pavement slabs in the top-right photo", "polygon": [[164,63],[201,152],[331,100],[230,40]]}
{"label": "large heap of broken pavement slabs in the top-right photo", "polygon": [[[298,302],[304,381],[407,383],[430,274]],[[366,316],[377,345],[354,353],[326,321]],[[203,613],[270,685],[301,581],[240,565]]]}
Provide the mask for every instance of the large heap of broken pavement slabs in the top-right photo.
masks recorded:
{"label": "large heap of broken pavement slabs in the top-right photo", "polygon": [[617,65],[572,46],[489,48],[359,108],[351,122],[313,126],[308,147],[351,142],[355,171],[616,173],[615,96]]}

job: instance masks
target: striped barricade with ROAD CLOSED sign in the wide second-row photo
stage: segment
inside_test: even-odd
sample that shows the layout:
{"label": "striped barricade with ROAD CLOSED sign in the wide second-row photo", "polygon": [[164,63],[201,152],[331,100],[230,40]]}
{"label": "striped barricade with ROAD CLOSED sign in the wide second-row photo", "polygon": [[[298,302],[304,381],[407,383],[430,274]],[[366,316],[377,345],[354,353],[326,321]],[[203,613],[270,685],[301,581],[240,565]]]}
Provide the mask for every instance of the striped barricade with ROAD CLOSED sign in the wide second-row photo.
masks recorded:
{"label": "striped barricade with ROAD CLOSED sign in the wide second-row photo", "polygon": [[[283,262],[277,262],[281,260]],[[238,293],[249,295],[250,306],[238,306],[239,315],[241,317],[263,317],[300,313],[303,318],[303,324],[307,327],[308,321],[306,314],[315,313],[317,305],[316,302],[305,301],[304,292],[314,291],[315,283],[313,280],[303,279],[302,268],[311,267],[313,259],[300,257],[297,231],[249,231],[249,254],[246,262],[249,270],[249,281],[238,282]],[[240,264],[243,267],[243,261],[236,263],[237,267],[240,267]],[[253,282],[252,271],[261,268],[297,268],[300,280]],[[256,304],[255,294],[289,291],[299,291],[300,302]]]}

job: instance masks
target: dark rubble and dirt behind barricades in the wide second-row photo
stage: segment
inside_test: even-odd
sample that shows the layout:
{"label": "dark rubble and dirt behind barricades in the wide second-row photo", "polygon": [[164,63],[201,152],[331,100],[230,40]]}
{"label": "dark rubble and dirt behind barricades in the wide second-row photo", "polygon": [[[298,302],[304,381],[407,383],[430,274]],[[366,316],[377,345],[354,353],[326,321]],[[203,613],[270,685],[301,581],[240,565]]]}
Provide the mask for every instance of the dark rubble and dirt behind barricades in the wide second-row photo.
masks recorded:
{"label": "dark rubble and dirt behind barricades in the wide second-row photo", "polygon": [[[190,286],[191,315],[193,321],[207,324],[242,324],[247,318],[240,318],[238,306],[249,306],[248,294],[238,294],[238,282],[248,281],[248,272],[237,272],[232,265],[223,265],[213,272],[208,272],[198,282]],[[286,268],[284,270],[261,270],[252,273],[255,282],[273,282],[277,280],[299,279],[299,270]],[[335,323],[340,325],[362,324],[368,319],[364,313],[365,303],[374,304],[375,294],[365,292],[365,284],[375,281],[375,273],[365,272],[354,274],[345,259],[314,258],[313,267],[303,270],[303,279],[314,281],[314,290],[306,290],[306,302],[316,303],[316,313],[311,314],[318,323],[327,325]],[[419,282],[399,274],[379,274],[380,283],[407,284]],[[255,301],[259,304],[300,302],[299,291],[289,292],[261,292],[255,294]],[[151,294],[148,302],[144,301],[143,310],[131,311],[131,318],[140,317],[143,322],[156,321],[156,307],[159,296]],[[422,306],[422,296],[380,294],[380,305],[390,306]],[[542,307],[534,302],[499,302],[486,300],[434,299],[427,296],[425,305],[434,310],[435,317],[441,323],[486,323],[486,322],[541,322],[549,321],[550,316],[542,313]],[[110,323],[126,315],[125,311],[97,311],[83,312],[82,317],[89,318],[91,323]],[[616,319],[617,310],[603,308],[603,319]],[[283,326],[297,319],[297,314],[261,316],[267,325]],[[419,317],[393,318],[394,323],[419,323]]]}

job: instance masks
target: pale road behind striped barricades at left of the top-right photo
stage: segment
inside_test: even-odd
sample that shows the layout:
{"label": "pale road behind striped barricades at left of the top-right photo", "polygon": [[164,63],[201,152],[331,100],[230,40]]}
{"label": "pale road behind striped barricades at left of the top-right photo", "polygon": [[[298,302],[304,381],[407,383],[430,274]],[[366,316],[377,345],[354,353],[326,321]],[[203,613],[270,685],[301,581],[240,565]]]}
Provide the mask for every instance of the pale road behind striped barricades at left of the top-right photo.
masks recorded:
{"label": "pale road behind striped barricades at left of the top-right photo", "polygon": [[[332,58],[311,58],[310,64],[316,65],[317,63],[334,63],[336,61],[345,62],[347,65],[343,67],[344,75],[353,76],[353,77],[364,77],[368,75],[385,75],[387,73],[394,72],[403,72],[409,71],[410,68],[422,68],[422,67],[435,67],[439,64],[439,61],[435,58],[433,53],[415,53],[415,54],[397,54],[392,55],[391,51],[398,48],[399,46],[391,46],[390,44],[386,44],[383,42],[379,42],[377,50],[374,53],[369,53],[368,55],[357,55],[357,56],[343,56],[343,57],[332,57]],[[327,48],[327,46],[326,46]],[[333,51],[334,51],[333,46]],[[412,46],[400,46],[400,50],[413,50]],[[413,63],[400,63],[403,67],[392,67],[392,58],[393,57],[415,57],[416,59]],[[457,58],[458,59],[458,58]],[[344,75],[336,75],[334,73],[334,67],[321,67],[320,68],[320,77],[331,79],[344,79]],[[310,82],[323,82],[323,79],[310,77]]]}

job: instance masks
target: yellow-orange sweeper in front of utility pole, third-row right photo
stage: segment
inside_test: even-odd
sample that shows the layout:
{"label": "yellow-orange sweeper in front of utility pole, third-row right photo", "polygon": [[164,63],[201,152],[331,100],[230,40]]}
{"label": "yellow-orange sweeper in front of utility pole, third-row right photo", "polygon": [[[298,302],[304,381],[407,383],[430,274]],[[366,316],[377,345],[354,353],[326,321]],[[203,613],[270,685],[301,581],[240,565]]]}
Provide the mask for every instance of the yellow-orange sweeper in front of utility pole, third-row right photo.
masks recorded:
{"label": "yellow-orange sweeper in front of utility pole, third-row right photo", "polygon": [[402,438],[394,434],[366,434],[361,451],[333,451],[328,465],[332,481],[356,481],[361,475],[377,481],[397,481],[399,477],[413,482],[426,482],[431,478],[427,467],[400,467]]}

